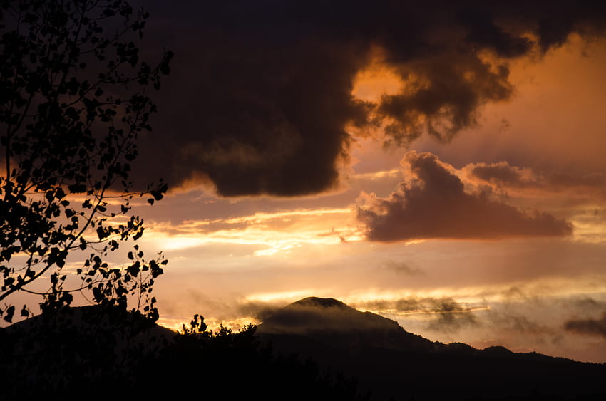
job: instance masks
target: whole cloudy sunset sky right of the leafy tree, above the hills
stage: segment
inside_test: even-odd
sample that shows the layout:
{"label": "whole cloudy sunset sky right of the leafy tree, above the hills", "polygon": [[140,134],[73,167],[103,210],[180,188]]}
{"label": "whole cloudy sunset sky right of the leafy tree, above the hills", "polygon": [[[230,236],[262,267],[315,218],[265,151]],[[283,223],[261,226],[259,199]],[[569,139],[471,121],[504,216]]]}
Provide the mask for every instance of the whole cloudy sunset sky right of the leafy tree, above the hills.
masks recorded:
{"label": "whole cloudy sunset sky right of the leafy tree, above the hills", "polygon": [[161,324],[332,297],[606,362],[605,3],[143,3]]}

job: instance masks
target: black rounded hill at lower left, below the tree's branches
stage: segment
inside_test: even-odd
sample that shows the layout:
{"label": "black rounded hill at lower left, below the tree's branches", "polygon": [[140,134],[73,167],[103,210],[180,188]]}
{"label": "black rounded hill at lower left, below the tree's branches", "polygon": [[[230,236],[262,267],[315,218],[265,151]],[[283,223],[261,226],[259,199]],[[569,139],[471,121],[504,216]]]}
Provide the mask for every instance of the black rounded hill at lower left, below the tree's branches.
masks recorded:
{"label": "black rounded hill at lower left, below the tree's branches", "polygon": [[91,399],[89,390],[100,382],[125,387],[174,336],[138,313],[108,306],[63,308],[14,323],[0,329],[0,377],[6,378],[0,400],[66,389]]}

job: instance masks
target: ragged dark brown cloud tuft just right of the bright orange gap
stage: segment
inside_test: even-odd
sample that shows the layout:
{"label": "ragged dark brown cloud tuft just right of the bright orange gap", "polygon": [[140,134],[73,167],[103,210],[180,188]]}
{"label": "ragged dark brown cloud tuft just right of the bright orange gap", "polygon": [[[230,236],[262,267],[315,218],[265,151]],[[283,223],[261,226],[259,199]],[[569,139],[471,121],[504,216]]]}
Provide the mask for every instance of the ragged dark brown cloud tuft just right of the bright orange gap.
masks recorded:
{"label": "ragged dark brown cloud tuft just right of the bright orange gap", "polygon": [[478,106],[508,99],[513,90],[505,64],[493,68],[475,54],[445,52],[405,63],[399,69],[407,78],[408,90],[385,95],[376,113],[381,119],[394,121],[386,133],[400,145],[423,133],[448,140],[463,128],[476,125]]}

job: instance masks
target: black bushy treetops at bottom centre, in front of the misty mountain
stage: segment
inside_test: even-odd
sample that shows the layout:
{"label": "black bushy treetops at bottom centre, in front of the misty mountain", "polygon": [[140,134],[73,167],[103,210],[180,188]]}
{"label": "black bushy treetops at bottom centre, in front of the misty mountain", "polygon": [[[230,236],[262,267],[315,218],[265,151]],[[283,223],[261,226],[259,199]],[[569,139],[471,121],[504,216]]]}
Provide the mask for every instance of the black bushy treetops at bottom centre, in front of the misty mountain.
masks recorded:
{"label": "black bushy treetops at bottom centre, in front of the misty mountain", "polygon": [[264,400],[370,399],[359,394],[356,380],[319,368],[314,360],[277,355],[256,330],[252,324],[237,332],[222,325],[207,330],[204,318],[195,315],[148,368],[164,378],[167,391],[200,383],[230,400],[253,392]]}

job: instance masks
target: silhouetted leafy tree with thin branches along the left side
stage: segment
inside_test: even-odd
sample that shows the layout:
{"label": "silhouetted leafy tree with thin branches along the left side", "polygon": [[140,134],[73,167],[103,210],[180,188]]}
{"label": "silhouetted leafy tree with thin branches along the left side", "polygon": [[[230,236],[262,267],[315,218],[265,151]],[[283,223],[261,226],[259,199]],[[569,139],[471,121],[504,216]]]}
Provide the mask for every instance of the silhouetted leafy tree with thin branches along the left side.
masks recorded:
{"label": "silhouetted leafy tree with thin branches along the left side", "polygon": [[167,190],[161,180],[135,188],[129,172],[156,111],[148,90],[173,53],[140,60],[148,14],[123,0],[0,4],[0,316],[12,321],[19,291],[41,295],[42,311],[80,291],[104,305],[134,298],[157,318],[150,291],[163,256],[146,260],[137,245],[127,264],[107,256],[143,234],[130,199],[153,204]]}

